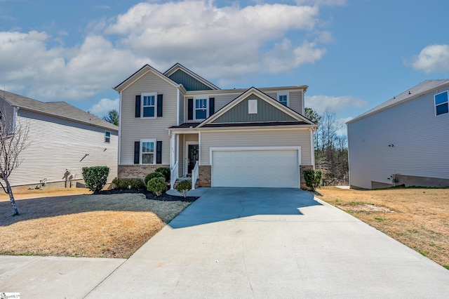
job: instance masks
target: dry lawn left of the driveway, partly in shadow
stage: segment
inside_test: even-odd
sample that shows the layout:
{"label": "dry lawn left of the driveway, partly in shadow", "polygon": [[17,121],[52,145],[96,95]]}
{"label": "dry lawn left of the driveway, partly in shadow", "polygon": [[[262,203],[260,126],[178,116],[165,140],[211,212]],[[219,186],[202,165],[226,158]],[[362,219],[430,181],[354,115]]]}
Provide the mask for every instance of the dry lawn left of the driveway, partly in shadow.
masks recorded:
{"label": "dry lawn left of the driveway, partly in shadow", "polygon": [[19,216],[0,196],[0,254],[128,258],[189,202],[86,189],[19,190]]}

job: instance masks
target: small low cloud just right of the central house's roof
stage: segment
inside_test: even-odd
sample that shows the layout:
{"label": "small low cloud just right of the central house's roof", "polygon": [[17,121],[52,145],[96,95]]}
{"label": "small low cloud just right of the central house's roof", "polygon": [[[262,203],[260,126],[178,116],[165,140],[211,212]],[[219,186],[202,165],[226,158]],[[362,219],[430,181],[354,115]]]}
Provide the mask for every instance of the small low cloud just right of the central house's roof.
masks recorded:
{"label": "small low cloud just right of the central house's roof", "polygon": [[306,107],[314,109],[318,114],[323,114],[326,109],[333,112],[342,111],[349,107],[366,107],[368,102],[351,95],[344,95],[341,97],[332,97],[328,95],[311,95],[304,97],[304,104]]}

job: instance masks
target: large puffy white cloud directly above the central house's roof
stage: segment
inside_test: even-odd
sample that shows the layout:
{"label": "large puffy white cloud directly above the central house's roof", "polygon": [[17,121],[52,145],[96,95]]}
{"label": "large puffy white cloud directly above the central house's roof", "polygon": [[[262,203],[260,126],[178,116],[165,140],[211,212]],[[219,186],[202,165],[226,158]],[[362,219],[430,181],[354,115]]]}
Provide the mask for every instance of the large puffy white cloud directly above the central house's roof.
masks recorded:
{"label": "large puffy white cloud directly above the central house's roof", "polygon": [[227,80],[251,72],[285,72],[321,59],[326,50],[316,41],[284,37],[292,31],[320,35],[314,29],[318,22],[316,6],[140,3],[119,15],[105,34],[121,36],[123,48],[151,57],[156,68],[182,61],[210,79]]}

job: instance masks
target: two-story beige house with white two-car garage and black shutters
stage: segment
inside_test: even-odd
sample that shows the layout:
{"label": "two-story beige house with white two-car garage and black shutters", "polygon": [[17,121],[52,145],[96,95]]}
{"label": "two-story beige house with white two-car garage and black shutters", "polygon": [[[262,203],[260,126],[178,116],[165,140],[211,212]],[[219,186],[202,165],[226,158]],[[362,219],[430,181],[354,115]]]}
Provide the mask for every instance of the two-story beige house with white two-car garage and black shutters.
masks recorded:
{"label": "two-story beige house with white two-car garage and black shutters", "polygon": [[145,65],[114,89],[119,178],[164,166],[200,186],[298,188],[314,167],[307,86],[220,89],[176,64],[164,73]]}

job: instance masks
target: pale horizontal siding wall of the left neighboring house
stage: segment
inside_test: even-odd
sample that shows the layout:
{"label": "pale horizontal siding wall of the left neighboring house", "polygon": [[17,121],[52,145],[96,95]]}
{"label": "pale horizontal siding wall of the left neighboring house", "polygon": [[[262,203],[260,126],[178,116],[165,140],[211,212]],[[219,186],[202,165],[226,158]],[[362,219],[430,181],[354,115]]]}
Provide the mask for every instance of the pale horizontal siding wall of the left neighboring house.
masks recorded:
{"label": "pale horizontal siding wall of the left neighboring house", "polygon": [[[29,130],[28,147],[20,155],[22,164],[11,173],[11,185],[38,185],[43,179],[64,182],[66,169],[73,180],[79,180],[83,178],[81,169],[86,166],[108,166],[107,182],[117,176],[116,131],[24,109],[19,110],[17,120]],[[111,132],[110,143],[105,142],[105,131]]]}

